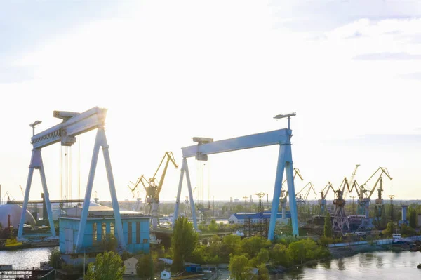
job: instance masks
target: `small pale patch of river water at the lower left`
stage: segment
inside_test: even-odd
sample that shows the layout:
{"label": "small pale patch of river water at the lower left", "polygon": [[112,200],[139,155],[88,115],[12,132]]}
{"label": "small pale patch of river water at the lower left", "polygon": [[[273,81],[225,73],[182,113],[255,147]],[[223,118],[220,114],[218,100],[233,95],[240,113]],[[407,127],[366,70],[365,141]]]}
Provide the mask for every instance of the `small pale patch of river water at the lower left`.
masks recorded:
{"label": "small pale patch of river water at the lower left", "polygon": [[16,251],[0,251],[0,264],[13,265],[13,269],[39,267],[39,262],[48,261],[55,247],[29,248]]}

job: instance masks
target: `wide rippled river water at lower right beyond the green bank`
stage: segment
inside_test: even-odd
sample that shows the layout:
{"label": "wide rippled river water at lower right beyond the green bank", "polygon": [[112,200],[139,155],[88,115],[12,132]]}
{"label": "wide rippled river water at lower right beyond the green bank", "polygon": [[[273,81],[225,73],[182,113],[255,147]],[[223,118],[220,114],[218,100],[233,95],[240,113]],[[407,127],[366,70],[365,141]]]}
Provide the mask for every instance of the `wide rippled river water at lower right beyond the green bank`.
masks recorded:
{"label": "wide rippled river water at lower right beyond the green bank", "polygon": [[377,251],[299,267],[273,279],[421,279],[420,252]]}

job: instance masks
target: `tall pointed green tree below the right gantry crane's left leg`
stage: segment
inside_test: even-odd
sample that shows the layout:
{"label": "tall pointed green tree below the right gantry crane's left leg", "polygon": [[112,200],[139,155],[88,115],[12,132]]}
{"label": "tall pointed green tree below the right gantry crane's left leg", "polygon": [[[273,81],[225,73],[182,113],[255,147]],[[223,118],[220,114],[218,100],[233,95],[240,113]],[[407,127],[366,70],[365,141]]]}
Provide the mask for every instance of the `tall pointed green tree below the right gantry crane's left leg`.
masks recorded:
{"label": "tall pointed green tree below the right gantry crane's left leg", "polygon": [[184,269],[184,263],[192,258],[194,249],[197,246],[199,234],[194,231],[193,225],[187,217],[180,217],[175,221],[173,237],[171,238],[171,249],[173,251],[173,272],[180,272]]}

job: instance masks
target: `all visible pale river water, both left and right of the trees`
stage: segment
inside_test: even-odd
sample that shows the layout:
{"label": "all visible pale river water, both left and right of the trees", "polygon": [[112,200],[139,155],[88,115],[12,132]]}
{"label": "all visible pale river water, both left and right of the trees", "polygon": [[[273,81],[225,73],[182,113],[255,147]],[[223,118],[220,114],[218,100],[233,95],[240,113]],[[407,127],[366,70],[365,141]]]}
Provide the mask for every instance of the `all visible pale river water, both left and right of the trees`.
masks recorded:
{"label": "all visible pale river water, both left and right of the trees", "polygon": [[[0,251],[0,264],[11,264],[14,269],[39,267],[39,262],[48,260],[52,249]],[[421,269],[417,269],[419,263],[420,252],[377,251],[299,267],[272,279],[421,279]],[[220,279],[228,279],[228,274]]]}

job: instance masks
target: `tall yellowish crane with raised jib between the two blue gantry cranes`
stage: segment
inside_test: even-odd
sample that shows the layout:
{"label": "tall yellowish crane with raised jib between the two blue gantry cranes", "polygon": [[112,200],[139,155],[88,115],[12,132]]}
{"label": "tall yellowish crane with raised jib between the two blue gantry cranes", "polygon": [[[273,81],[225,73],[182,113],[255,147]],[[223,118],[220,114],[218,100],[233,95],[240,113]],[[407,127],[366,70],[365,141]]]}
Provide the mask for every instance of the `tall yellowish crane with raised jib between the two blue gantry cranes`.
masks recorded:
{"label": "tall yellowish crane with raised jib between the two blue gantry cranes", "polygon": [[[164,161],[166,161],[166,163],[163,165]],[[154,176],[149,179],[149,186],[146,187],[146,202],[147,204],[149,204],[149,215],[152,213],[152,229],[156,229],[156,227],[158,227],[159,194],[161,193],[163,180],[165,179],[166,171],[168,169],[168,164],[170,163],[170,161],[175,166],[175,168],[178,168],[178,165],[175,164],[173,152],[165,152],[161,163],[159,164],[158,168],[156,168]],[[163,166],[163,171],[158,184],[156,184],[156,175],[161,169],[161,166]]]}

